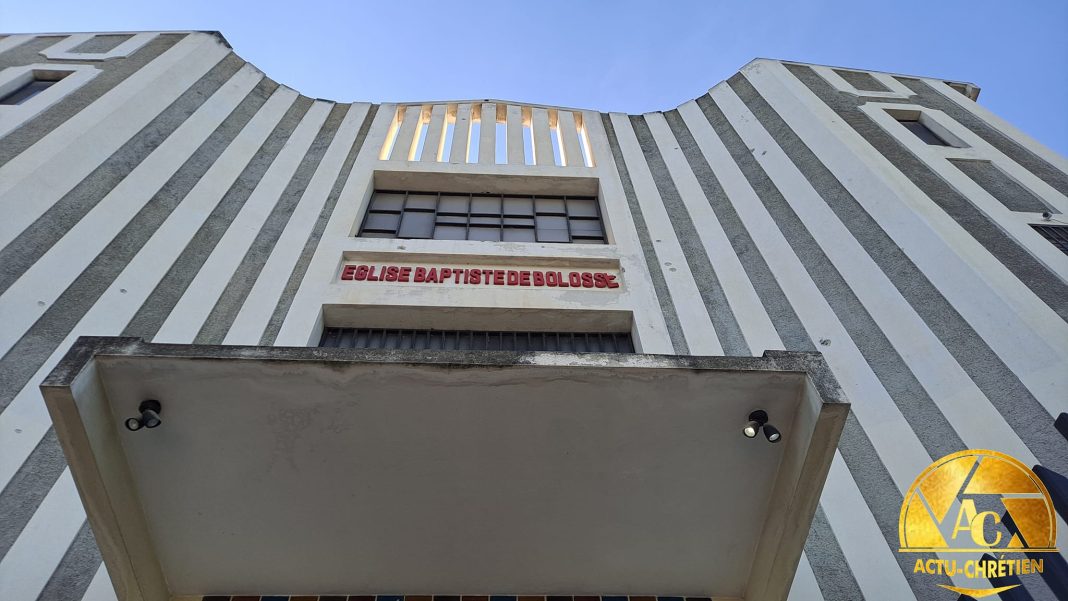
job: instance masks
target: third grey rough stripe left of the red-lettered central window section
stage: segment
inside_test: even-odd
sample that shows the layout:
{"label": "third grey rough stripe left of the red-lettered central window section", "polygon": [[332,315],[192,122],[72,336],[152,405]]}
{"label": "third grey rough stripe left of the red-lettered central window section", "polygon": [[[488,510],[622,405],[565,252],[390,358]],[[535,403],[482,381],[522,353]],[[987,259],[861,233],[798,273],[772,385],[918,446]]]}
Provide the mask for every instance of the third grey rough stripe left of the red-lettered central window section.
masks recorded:
{"label": "third grey rough stripe left of the red-lettered central window section", "polygon": [[[300,96],[293,102],[273,131],[241,171],[241,174],[237,176],[237,180],[226,190],[222,200],[204,220],[185,250],[167,270],[167,274],[148,295],[147,300],[123,330],[122,335],[139,336],[145,341],[155,337],[167,316],[170,315],[193,278],[197,276],[197,272],[200,271],[222,235],[225,234],[226,228],[245,206],[245,201],[249,199],[256,184],[274,161],[274,157],[282,151],[282,146],[293,135],[293,130],[311,108],[312,102],[313,100],[305,96]],[[191,327],[193,326],[191,325]]]}

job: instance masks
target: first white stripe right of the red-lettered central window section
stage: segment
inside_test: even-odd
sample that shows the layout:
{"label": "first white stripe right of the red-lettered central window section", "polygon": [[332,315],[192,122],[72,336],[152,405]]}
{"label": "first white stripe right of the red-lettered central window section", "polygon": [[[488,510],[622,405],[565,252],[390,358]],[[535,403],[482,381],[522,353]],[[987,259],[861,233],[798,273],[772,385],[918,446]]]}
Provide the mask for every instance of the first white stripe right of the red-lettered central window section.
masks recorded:
{"label": "first white stripe right of the red-lettered central window section", "polygon": [[645,162],[645,155],[638,143],[638,138],[634,137],[630,120],[627,115],[618,113],[612,113],[611,118],[619,149],[627,163],[627,171],[630,173],[630,181],[634,187],[634,195],[638,196],[638,204],[642,207],[649,237],[653,238],[653,248],[661,262],[660,268],[668,283],[679,325],[686,335],[686,344],[690,347],[690,354],[723,354],[716,328],[708,317],[701,290],[697,289],[690,272],[690,266],[675,236],[675,230]]}

